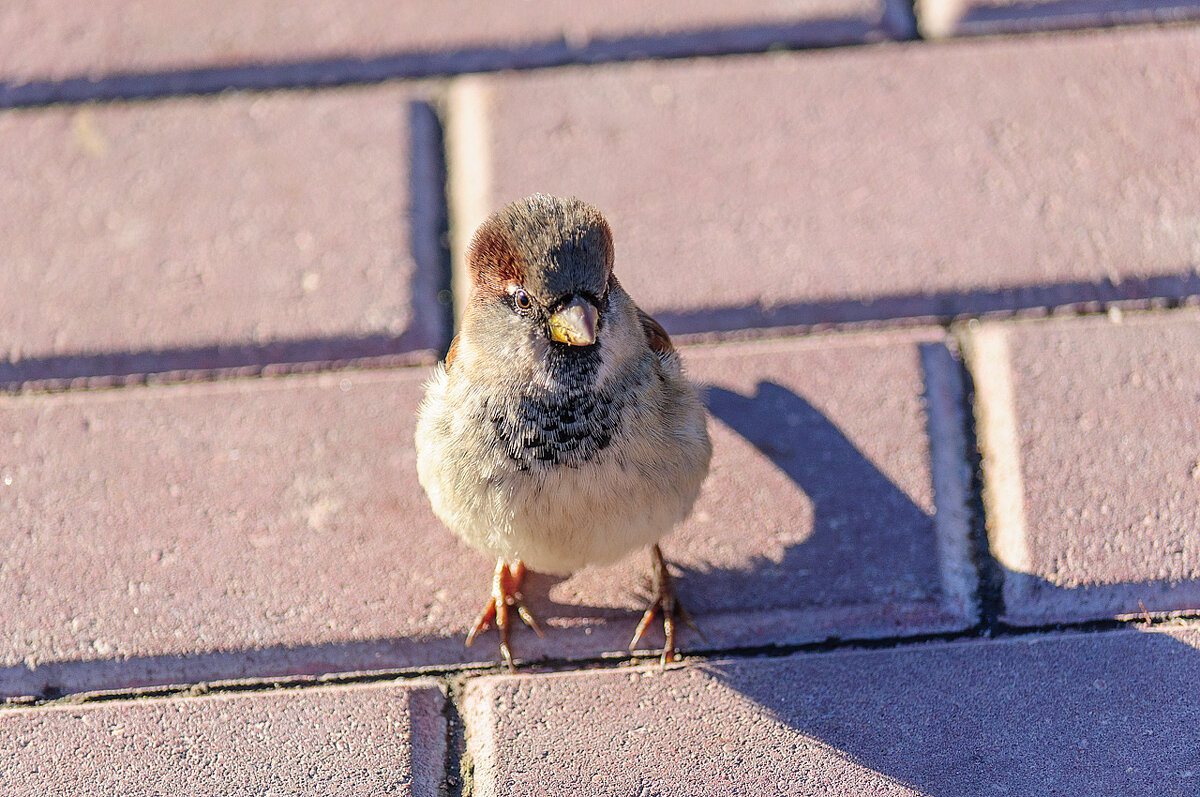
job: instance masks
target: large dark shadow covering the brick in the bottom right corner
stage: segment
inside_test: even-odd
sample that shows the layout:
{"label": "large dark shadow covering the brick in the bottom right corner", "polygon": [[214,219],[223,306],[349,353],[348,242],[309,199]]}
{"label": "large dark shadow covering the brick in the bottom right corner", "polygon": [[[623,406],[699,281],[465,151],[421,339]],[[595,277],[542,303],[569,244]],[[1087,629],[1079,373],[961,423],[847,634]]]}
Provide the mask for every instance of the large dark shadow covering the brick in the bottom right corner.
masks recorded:
{"label": "large dark shadow covering the brick in the bottom right corner", "polygon": [[[760,707],[762,721],[793,731],[798,747],[815,741],[809,750],[866,769],[853,779],[829,773],[859,793],[1196,793],[1200,651],[1166,634],[977,640],[701,669]],[[812,772],[817,762],[794,766]]]}

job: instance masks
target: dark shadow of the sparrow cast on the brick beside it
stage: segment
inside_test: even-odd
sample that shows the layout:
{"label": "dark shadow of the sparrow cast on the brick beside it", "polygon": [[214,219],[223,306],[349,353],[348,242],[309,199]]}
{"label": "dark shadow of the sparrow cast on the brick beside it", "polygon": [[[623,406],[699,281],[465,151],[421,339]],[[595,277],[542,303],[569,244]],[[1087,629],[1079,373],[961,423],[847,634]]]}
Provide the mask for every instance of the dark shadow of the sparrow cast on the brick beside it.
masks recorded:
{"label": "dark shadow of the sparrow cast on the brick beside it", "polygon": [[[779,563],[685,571],[680,589],[701,593],[691,601],[700,612],[937,601],[938,594],[929,593],[940,582],[934,519],[835,424],[772,382],[760,383],[752,396],[710,388],[706,397],[714,418],[804,491],[812,504],[812,527]],[[799,586],[796,574],[808,574]],[[876,589],[880,594],[872,594]],[[712,605],[707,594],[736,603]]]}

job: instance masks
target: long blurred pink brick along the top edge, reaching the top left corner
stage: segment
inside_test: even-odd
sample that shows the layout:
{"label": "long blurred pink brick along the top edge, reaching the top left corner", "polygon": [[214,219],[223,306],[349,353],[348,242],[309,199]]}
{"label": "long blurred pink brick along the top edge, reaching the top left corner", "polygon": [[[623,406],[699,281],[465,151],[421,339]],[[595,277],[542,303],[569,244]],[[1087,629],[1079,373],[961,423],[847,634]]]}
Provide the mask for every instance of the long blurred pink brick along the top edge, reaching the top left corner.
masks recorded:
{"label": "long blurred pink brick along the top edge, reaching the top left corner", "polygon": [[[890,13],[899,16],[898,11]],[[653,50],[655,37],[668,40],[671,34],[710,31],[714,36],[708,38],[720,42],[728,38],[721,36],[722,30],[773,26],[787,43],[862,41],[881,35],[883,17],[882,4],[870,0],[751,0],[736,5],[719,0],[505,0],[485,6],[449,0],[436,7],[406,0],[317,2],[302,10],[282,0],[220,0],[203,11],[179,0],[150,6],[127,0],[89,6],[35,0],[0,11],[0,31],[10,43],[0,54],[0,77],[24,82],[436,50],[460,55],[457,60],[469,68],[480,56],[490,55],[490,49],[512,48],[512,62],[518,64],[529,58],[521,50],[552,48],[563,40],[571,49],[582,49],[589,40],[630,38],[631,46]],[[755,42],[760,38],[752,36]],[[698,37],[694,43],[703,47],[706,41]]]}

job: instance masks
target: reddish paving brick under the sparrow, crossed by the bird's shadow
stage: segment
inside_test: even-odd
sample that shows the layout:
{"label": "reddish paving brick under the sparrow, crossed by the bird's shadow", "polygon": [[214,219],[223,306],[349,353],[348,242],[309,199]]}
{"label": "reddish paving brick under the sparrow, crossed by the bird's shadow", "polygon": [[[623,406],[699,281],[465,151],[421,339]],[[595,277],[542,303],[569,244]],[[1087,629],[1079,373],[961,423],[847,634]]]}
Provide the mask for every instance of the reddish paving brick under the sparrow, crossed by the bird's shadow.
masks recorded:
{"label": "reddish paving brick under the sparrow, crossed by the bird's shadow", "polygon": [[[716,455],[665,547],[707,645],[973,622],[960,398],[938,332],[685,358],[713,386]],[[426,376],[0,397],[0,695],[494,660],[490,636],[462,645],[492,563],[416,483]],[[534,576],[548,634],[518,631],[518,655],[624,651],[647,574],[637,553]]]}

